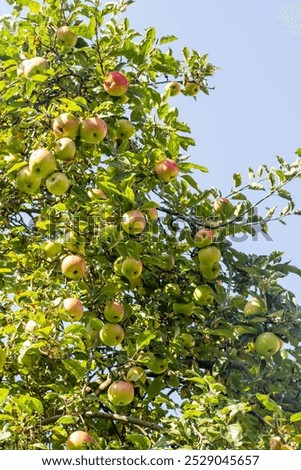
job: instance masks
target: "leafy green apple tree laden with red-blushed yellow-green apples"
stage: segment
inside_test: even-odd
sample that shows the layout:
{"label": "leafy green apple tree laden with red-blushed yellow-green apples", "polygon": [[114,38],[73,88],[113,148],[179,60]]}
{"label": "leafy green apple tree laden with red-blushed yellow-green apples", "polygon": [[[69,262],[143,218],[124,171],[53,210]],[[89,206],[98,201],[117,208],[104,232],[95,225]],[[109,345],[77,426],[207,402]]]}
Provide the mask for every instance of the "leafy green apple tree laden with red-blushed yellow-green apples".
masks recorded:
{"label": "leafy green apple tree laden with red-blushed yellow-green apples", "polygon": [[7,3],[0,447],[298,448],[301,271],[236,241],[299,214],[300,151],[221,194],[177,107],[207,55],[132,29],[132,0]]}

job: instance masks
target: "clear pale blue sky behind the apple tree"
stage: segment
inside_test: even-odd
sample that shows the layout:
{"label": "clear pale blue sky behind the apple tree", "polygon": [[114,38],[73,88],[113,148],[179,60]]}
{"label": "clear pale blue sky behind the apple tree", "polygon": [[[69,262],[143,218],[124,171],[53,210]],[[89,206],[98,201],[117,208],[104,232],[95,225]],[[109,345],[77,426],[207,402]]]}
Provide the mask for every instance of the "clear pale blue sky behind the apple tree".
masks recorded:
{"label": "clear pale blue sky behind the apple tree", "polygon": [[[0,14],[8,11],[0,0]],[[276,166],[276,155],[295,160],[301,147],[301,2],[136,0],[128,16],[141,32],[155,26],[159,36],[176,35],[179,40],[170,45],[175,51],[187,45],[208,52],[221,67],[210,82],[215,90],[209,97],[200,95],[197,102],[174,98],[197,141],[192,159],[210,170],[198,176],[202,188],[217,186],[226,195],[234,172],[247,182],[249,166]],[[301,207],[301,180],[288,189]],[[301,268],[301,217],[287,224],[271,225],[273,241],[259,236],[236,248],[258,254],[285,251],[285,260]],[[283,284],[301,302],[301,280],[289,276]]]}

